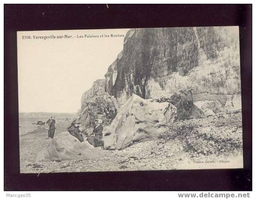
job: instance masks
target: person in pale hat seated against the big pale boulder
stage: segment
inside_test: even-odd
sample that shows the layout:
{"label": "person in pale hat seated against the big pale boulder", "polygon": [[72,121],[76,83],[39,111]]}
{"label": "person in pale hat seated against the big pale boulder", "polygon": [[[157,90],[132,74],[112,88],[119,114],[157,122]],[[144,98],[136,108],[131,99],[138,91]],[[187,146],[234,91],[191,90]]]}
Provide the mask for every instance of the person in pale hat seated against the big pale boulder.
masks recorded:
{"label": "person in pale hat seated against the big pale boulder", "polygon": [[103,146],[103,140],[102,140],[102,131],[103,126],[102,119],[95,119],[95,126],[93,128],[93,132],[91,133],[91,136],[88,136],[87,141],[93,145],[94,147],[100,147]]}

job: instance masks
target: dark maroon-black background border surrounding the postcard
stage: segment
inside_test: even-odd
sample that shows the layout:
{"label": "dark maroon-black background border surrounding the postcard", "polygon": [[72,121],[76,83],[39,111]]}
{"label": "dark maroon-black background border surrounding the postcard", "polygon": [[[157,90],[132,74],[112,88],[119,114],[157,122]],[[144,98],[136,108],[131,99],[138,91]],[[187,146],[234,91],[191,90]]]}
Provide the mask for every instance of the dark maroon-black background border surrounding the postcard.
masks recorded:
{"label": "dark maroon-black background border surrounding the postcard", "polygon": [[[17,31],[239,26],[244,169],[19,173]],[[4,5],[4,190],[252,190],[252,5]]]}

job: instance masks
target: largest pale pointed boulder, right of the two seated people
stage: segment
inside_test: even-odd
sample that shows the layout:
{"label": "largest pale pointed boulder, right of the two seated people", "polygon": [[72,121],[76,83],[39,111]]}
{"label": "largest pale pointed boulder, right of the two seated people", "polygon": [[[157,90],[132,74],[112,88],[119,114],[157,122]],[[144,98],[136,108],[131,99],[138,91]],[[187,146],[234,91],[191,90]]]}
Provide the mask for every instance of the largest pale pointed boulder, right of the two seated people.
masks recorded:
{"label": "largest pale pointed boulder, right of the two seated people", "polygon": [[174,105],[152,102],[133,94],[119,109],[111,125],[105,126],[104,148],[120,150],[132,143],[156,139],[167,130],[167,122],[176,120],[177,108]]}

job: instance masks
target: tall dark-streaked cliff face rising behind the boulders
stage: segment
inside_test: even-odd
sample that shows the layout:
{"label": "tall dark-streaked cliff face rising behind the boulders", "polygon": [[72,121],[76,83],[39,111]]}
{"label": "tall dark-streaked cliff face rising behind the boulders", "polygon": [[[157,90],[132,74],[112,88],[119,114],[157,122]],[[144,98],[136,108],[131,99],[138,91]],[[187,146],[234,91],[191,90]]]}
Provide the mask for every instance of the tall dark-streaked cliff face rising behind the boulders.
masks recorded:
{"label": "tall dark-streaked cliff face rising behind the boulders", "polygon": [[[240,94],[238,27],[138,28],[129,30],[123,51],[81,101],[105,91],[119,105],[134,93],[154,98],[192,88],[194,101]],[[96,81],[96,82],[97,82]]]}

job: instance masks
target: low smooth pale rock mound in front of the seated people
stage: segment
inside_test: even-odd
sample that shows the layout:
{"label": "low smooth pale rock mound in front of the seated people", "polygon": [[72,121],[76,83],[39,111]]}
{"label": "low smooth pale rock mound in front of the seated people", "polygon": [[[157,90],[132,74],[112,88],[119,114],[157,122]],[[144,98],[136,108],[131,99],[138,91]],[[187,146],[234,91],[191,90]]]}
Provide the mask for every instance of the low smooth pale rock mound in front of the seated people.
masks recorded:
{"label": "low smooth pale rock mound in front of the seated people", "polygon": [[98,159],[103,157],[103,152],[94,148],[87,141],[80,142],[68,131],[59,133],[50,141],[48,147],[41,150],[36,162],[61,161],[71,159]]}

